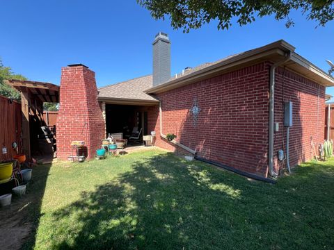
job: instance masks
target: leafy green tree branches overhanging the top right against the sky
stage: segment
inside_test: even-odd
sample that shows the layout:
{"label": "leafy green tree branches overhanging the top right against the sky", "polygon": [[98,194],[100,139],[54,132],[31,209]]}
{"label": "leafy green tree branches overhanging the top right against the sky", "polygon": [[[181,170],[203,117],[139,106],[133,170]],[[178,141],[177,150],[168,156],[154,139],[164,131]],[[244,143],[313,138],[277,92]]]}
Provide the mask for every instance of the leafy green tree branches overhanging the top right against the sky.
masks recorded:
{"label": "leafy green tree branches overhanging the top right against the sky", "polygon": [[320,26],[334,19],[334,0],[137,0],[150,10],[154,19],[170,17],[173,28],[183,28],[188,33],[212,20],[218,21],[218,29],[228,29],[232,20],[240,25],[255,21],[255,17],[274,15],[275,19],[286,19],[285,26],[294,26],[289,17],[292,10],[301,10],[307,19]]}

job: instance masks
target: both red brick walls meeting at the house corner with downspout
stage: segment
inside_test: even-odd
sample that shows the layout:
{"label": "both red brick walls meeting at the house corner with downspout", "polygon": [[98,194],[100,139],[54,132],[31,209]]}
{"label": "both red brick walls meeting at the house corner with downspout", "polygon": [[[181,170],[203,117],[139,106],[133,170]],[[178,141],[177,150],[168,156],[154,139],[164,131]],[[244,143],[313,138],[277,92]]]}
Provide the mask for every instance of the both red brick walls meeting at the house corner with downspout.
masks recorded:
{"label": "both red brick walls meeting at the house corner with downspout", "polygon": [[[196,149],[199,156],[267,176],[269,67],[270,63],[260,63],[158,94],[162,101],[163,133],[177,134],[177,140]],[[285,167],[277,162],[277,151],[283,147],[286,136],[283,100],[294,102],[289,144],[291,166],[310,159],[311,136],[315,142],[324,138],[324,87],[285,71],[282,88],[282,73],[281,68],[276,73],[275,117],[280,122],[280,131],[274,138],[276,169]],[[189,112],[194,98],[201,109],[196,127]],[[148,114],[149,130],[157,132],[156,145],[175,151],[173,144],[159,136],[159,107],[152,107]]]}

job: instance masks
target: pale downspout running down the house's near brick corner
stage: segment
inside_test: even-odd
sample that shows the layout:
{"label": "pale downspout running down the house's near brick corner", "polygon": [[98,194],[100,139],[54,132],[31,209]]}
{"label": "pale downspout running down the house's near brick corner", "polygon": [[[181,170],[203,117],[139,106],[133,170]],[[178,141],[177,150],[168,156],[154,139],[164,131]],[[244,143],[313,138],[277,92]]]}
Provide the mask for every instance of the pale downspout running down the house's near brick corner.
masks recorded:
{"label": "pale downspout running down the house's near brick corner", "polygon": [[273,169],[273,122],[275,119],[275,69],[279,65],[290,59],[291,51],[287,52],[283,60],[274,63],[270,67],[269,76],[269,148],[268,148],[268,167],[269,174],[276,178],[278,174]]}

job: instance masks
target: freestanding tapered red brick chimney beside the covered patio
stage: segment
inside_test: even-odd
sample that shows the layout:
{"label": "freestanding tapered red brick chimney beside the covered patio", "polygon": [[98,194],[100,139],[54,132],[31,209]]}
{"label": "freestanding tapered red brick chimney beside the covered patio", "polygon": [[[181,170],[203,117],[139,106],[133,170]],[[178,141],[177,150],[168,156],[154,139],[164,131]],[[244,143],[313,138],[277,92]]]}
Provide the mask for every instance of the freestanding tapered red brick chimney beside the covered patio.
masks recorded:
{"label": "freestanding tapered red brick chimney beside the covered patio", "polygon": [[56,121],[57,157],[67,159],[72,154],[71,142],[84,140],[84,154],[88,159],[93,158],[105,136],[104,126],[97,101],[95,72],[85,65],[63,67]]}

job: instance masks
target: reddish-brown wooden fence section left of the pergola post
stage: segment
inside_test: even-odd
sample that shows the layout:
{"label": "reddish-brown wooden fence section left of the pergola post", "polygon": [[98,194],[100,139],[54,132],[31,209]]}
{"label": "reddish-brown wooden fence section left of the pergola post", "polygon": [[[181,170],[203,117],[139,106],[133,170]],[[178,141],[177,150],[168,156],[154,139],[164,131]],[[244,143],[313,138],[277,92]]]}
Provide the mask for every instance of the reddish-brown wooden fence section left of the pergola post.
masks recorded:
{"label": "reddish-brown wooden fence section left of the pergola post", "polygon": [[[21,131],[21,103],[0,96],[0,161],[22,152]],[[12,147],[13,142],[17,142],[17,151]]]}

